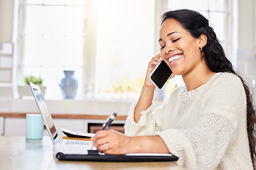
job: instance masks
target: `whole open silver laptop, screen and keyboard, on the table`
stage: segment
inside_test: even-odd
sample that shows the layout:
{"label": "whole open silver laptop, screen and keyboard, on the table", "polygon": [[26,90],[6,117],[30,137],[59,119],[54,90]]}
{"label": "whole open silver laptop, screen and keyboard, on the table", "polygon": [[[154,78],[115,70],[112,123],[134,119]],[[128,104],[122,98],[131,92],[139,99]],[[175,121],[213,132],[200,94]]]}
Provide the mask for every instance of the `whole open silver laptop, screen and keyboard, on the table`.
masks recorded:
{"label": "whole open silver laptop, screen and keyboard, on the table", "polygon": [[[53,142],[53,145],[55,146],[54,148],[58,148],[59,151],[63,151],[66,153],[68,152],[72,154],[86,154],[87,149],[92,148],[92,141],[61,139],[53,123],[53,118],[50,115],[50,112],[48,111],[46,102],[43,99],[43,94],[41,93],[40,87],[31,82],[29,83],[29,86],[31,86],[31,91],[36,100],[38,109],[43,117],[43,122],[46,126],[48,134],[50,135],[50,139]],[[92,134],[87,133],[87,135],[92,135]]]}

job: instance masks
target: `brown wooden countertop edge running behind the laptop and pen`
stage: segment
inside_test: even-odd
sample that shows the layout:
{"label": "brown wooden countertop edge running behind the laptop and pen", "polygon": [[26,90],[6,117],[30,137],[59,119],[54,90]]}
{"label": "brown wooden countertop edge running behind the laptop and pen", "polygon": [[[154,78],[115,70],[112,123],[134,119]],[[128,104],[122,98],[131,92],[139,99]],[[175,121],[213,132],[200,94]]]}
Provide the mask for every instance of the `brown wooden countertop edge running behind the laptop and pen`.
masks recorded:
{"label": "brown wooden countertop edge running behind the laptop and pen", "polygon": [[[27,113],[0,112],[0,117],[4,118],[26,118]],[[35,114],[35,113],[33,113]],[[38,113],[39,114],[39,113]],[[111,114],[111,113],[110,113]],[[63,119],[95,119],[105,120],[109,115],[103,114],[75,114],[75,113],[51,113],[53,118]],[[126,120],[127,115],[117,115],[114,120]]]}

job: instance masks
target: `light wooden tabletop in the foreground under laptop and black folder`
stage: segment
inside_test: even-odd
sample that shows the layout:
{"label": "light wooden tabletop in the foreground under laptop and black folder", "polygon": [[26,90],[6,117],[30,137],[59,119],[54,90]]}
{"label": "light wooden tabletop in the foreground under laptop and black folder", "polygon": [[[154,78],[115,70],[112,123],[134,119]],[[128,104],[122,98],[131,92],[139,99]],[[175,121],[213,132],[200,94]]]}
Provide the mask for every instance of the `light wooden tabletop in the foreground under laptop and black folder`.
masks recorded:
{"label": "light wooden tabletop in the foreground under laptop and black folder", "polygon": [[53,144],[46,136],[43,140],[0,136],[0,169],[182,170],[175,162],[60,162],[54,157]]}

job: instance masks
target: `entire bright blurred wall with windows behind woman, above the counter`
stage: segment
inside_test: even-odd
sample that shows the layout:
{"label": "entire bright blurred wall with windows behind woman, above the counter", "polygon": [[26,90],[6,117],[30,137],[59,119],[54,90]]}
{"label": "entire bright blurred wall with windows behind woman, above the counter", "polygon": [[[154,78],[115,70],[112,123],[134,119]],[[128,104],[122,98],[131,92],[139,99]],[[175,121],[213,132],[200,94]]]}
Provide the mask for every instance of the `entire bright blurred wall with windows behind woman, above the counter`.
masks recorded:
{"label": "entire bright blurred wall with windows behind woman, above the counter", "polygon": [[[43,79],[47,100],[65,100],[64,70],[75,71],[75,101],[136,100],[147,64],[159,53],[161,14],[178,8],[209,19],[227,57],[253,86],[255,6],[255,0],[0,0],[0,110],[29,99],[18,86],[31,75]],[[181,77],[171,79],[156,96],[164,99],[181,85]]]}

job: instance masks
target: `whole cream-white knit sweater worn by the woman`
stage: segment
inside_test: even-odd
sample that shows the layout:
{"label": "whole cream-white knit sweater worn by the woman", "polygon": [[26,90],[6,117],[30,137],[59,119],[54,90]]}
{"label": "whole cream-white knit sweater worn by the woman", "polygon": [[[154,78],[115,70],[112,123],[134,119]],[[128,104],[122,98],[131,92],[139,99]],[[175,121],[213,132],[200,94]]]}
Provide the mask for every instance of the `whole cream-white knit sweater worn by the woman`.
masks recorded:
{"label": "whole cream-white knit sweater worn by the woman", "polygon": [[245,98],[238,77],[217,73],[193,91],[178,87],[155,111],[153,106],[142,111],[138,123],[134,103],[125,134],[159,135],[187,169],[250,170]]}

